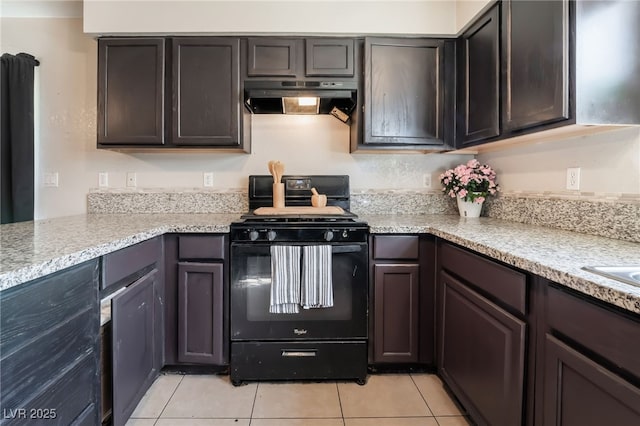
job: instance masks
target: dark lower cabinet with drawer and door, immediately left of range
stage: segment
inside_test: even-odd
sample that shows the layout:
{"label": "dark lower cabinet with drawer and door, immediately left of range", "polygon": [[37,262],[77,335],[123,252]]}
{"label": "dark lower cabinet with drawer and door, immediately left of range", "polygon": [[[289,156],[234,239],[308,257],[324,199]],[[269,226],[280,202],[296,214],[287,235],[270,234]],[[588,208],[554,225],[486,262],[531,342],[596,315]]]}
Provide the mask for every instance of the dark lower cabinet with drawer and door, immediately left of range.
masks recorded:
{"label": "dark lower cabinet with drawer and door, immediately left of range", "polygon": [[228,365],[228,234],[168,234],[164,247],[166,365]]}

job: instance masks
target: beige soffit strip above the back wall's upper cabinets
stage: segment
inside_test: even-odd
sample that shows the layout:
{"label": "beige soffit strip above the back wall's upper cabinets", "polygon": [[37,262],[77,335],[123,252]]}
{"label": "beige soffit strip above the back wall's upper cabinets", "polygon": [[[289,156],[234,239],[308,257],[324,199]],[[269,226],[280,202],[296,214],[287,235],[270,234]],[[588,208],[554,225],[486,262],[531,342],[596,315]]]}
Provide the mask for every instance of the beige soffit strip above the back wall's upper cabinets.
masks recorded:
{"label": "beige soffit strip above the back wall's upper cabinets", "polygon": [[85,0],[84,31],[453,34],[455,0]]}

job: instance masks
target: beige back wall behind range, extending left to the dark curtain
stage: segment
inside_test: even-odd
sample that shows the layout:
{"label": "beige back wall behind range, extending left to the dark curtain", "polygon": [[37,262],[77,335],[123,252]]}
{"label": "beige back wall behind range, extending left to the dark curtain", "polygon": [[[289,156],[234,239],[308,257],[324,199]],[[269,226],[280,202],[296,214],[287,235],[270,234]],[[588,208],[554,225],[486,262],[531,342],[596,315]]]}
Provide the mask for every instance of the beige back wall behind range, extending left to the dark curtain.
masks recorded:
{"label": "beige back wall behind range, extending left to the dark curtain", "polygon": [[[253,153],[125,154],[96,145],[96,42],[82,33],[81,19],[3,18],[3,52],[29,52],[40,60],[36,218],[86,211],[86,194],[98,172],[109,173],[112,188],[124,188],[136,172],[139,188],[202,187],[202,173],[214,173],[217,189],[246,187],[249,174],[267,174],[279,159],[287,173],[351,176],[352,188],[423,188],[423,177],[437,175],[469,156],[351,155],[348,128],[331,116],[256,116]],[[57,188],[44,187],[45,172],[59,173]]]}

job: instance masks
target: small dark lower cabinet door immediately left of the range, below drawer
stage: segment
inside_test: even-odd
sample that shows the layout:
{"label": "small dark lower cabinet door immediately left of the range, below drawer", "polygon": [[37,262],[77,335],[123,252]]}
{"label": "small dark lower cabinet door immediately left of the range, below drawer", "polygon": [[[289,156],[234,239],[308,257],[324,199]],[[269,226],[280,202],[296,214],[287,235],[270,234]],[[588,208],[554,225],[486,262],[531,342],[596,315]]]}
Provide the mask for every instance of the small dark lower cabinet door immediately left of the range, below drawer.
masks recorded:
{"label": "small dark lower cabinet door immediately left of the range, below drawer", "polygon": [[222,263],[178,264],[178,361],[227,364]]}

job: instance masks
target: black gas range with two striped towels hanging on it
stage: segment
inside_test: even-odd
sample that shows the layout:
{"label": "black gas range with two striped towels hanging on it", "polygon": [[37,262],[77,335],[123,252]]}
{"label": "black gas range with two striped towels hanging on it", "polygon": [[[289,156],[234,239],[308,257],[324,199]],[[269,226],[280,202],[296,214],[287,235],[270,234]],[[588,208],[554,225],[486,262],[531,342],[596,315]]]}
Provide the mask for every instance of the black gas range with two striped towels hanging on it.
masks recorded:
{"label": "black gas range with two striped towels hanging on it", "polygon": [[[231,381],[355,379],[364,383],[368,226],[349,211],[349,177],[284,176],[283,183],[285,206],[293,213],[285,208],[269,214],[273,179],[250,176],[250,212],[231,225]],[[311,188],[326,194],[327,206],[332,208],[312,209]],[[315,284],[331,292],[330,306],[272,312],[273,271],[280,267],[274,257],[276,246],[303,253],[293,263],[295,268],[301,265],[301,275],[309,261],[307,253],[320,249],[329,254],[312,264],[326,272],[324,281]]]}

